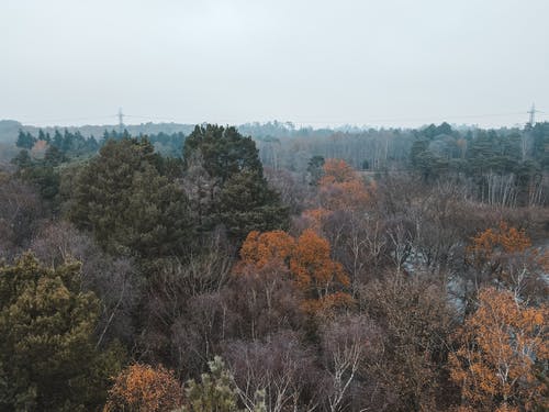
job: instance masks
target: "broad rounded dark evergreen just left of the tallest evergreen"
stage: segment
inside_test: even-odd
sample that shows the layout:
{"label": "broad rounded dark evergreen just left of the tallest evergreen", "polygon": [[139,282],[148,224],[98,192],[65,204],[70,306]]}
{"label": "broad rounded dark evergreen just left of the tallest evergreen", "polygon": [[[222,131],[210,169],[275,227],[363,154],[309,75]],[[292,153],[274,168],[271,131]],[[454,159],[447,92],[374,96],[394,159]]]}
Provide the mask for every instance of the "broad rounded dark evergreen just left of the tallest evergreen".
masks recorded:
{"label": "broad rounded dark evergreen just left of the tallest evergreen", "polygon": [[187,198],[157,165],[147,140],[108,141],[77,178],[70,220],[110,252],[183,253],[192,237]]}

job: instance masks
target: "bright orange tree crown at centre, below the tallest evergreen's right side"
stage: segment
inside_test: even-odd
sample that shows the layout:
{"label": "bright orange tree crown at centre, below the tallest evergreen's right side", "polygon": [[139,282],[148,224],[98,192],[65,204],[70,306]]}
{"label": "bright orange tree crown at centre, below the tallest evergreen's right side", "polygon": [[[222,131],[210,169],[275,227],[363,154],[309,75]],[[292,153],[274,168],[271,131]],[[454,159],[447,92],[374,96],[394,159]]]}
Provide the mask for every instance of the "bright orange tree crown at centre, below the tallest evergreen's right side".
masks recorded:
{"label": "bright orange tree crown at centre, below the tallest evergreen's right side", "polygon": [[329,254],[329,243],[312,230],[299,238],[283,231],[250,232],[240,249],[240,265],[257,269],[266,265],[282,265],[289,269],[295,286],[304,293],[303,308],[307,311],[347,304],[351,298],[343,289],[349,278],[341,265]]}

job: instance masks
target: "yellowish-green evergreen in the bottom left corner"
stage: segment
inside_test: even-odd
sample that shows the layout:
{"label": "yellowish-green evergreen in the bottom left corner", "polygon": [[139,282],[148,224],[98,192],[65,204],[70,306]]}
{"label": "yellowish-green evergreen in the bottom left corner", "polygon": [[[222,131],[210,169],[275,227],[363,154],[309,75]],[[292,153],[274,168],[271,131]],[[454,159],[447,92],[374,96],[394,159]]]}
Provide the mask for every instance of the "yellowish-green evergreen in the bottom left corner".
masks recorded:
{"label": "yellowish-green evergreen in the bottom left corner", "polygon": [[0,409],[85,411],[104,402],[121,368],[116,346],[93,342],[99,301],[82,292],[79,264],[51,269],[26,254],[0,266]]}

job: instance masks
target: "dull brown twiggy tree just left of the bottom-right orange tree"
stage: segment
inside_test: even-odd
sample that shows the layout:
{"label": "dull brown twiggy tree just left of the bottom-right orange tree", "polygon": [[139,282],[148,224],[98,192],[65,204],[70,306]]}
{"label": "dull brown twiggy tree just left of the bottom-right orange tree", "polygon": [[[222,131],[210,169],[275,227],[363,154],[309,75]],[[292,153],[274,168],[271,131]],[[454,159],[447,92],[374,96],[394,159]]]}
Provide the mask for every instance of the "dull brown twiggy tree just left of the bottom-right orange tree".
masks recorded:
{"label": "dull brown twiggy tree just left of the bottom-right orange tree", "polygon": [[444,287],[424,276],[391,274],[361,290],[360,305],[380,341],[366,354],[362,369],[373,410],[435,412],[452,401],[446,356],[453,312]]}

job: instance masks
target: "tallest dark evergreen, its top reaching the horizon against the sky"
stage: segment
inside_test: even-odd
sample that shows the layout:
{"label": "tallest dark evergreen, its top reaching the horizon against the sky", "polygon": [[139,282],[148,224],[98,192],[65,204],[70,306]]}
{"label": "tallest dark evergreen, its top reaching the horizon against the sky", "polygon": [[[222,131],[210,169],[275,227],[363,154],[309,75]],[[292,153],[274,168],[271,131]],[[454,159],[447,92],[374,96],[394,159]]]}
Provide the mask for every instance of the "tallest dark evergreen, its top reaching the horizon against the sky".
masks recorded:
{"label": "tallest dark evergreen, its top reaching the horizon against the sky", "polygon": [[184,141],[183,167],[188,176],[197,167],[197,159],[214,186],[209,192],[219,192],[211,202],[212,215],[202,216],[209,224],[202,230],[223,224],[233,238],[243,241],[254,230],[287,226],[288,208],[268,188],[251,137],[242,136],[235,127],[197,126]]}

